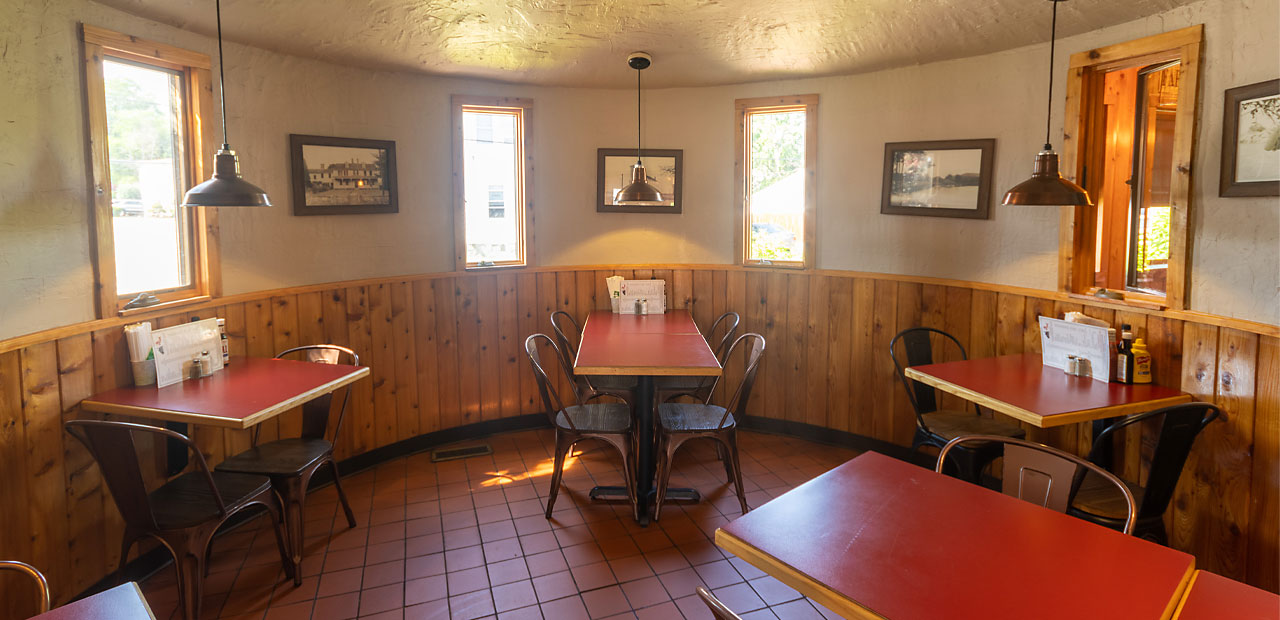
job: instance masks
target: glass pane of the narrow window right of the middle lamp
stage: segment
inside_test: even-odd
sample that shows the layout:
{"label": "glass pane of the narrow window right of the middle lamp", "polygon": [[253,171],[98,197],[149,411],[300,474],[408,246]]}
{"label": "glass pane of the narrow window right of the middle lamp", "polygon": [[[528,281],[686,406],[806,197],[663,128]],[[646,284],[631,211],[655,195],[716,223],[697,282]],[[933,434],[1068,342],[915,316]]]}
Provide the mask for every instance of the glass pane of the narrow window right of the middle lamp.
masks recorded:
{"label": "glass pane of the narrow window right of the middle lamp", "polygon": [[748,114],[748,260],[804,260],[805,113]]}

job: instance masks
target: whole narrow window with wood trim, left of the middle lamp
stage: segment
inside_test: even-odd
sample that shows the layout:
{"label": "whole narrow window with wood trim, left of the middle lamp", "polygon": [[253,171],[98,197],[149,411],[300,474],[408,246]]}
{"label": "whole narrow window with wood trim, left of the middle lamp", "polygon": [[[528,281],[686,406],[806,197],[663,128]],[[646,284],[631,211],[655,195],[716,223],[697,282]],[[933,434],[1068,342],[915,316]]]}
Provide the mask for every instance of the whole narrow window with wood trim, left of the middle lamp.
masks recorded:
{"label": "whole narrow window with wood trim, left of the middle lamp", "polygon": [[527,99],[453,96],[457,269],[531,263]]}

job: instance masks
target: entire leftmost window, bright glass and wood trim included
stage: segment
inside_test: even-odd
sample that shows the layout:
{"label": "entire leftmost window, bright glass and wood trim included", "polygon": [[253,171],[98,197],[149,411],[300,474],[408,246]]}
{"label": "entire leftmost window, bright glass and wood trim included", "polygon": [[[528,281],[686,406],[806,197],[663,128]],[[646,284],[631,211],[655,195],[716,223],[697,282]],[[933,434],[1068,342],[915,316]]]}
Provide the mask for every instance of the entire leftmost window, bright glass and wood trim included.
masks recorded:
{"label": "entire leftmost window, bright glass and wood trim included", "polygon": [[205,300],[220,286],[216,214],[182,208],[205,178],[209,56],[83,26],[92,179],[91,242],[100,318]]}

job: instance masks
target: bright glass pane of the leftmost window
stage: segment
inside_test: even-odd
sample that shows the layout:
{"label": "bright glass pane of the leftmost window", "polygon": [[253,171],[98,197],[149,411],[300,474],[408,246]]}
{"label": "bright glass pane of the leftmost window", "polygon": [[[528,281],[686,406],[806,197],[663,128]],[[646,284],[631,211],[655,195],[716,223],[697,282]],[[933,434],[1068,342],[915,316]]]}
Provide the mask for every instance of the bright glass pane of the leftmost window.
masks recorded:
{"label": "bright glass pane of the leftmost window", "polygon": [[179,74],[113,59],[102,74],[116,292],[191,286]]}

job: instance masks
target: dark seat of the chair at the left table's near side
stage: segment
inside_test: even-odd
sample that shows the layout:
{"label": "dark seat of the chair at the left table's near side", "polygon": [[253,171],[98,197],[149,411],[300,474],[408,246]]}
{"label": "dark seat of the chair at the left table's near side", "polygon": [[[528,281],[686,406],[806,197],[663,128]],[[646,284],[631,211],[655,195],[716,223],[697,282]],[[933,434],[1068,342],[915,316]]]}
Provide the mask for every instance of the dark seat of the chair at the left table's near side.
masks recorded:
{"label": "dark seat of the chair at the left table's near side", "polygon": [[[250,498],[268,492],[271,479],[265,475],[211,471],[223,503],[232,511]],[[188,471],[147,494],[160,529],[183,529],[218,519],[218,502],[201,471]]]}

